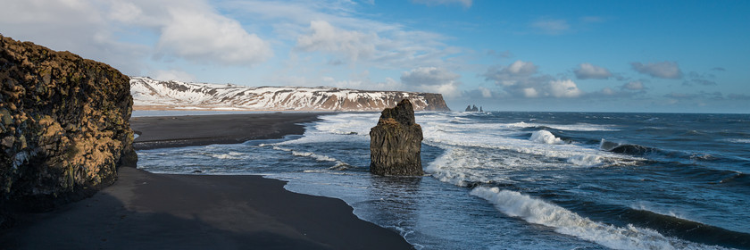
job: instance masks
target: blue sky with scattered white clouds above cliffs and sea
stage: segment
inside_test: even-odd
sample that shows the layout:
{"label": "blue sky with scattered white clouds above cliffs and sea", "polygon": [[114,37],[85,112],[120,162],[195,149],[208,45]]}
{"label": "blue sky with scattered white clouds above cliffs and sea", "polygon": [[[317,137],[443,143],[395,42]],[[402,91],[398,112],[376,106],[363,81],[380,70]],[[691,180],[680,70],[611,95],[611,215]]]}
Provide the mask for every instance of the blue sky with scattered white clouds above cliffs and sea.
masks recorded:
{"label": "blue sky with scattered white clouds above cliffs and sea", "polygon": [[453,110],[750,112],[750,1],[0,0],[130,76],[442,94]]}

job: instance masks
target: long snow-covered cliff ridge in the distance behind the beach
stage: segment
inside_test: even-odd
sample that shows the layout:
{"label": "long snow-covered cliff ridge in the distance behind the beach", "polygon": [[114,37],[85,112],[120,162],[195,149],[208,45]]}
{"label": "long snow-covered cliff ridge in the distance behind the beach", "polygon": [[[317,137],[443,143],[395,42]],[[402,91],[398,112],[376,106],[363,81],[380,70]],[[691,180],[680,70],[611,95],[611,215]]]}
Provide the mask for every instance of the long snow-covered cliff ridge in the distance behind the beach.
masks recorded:
{"label": "long snow-covered cliff ridge in the distance behind the beach", "polygon": [[381,111],[409,99],[416,111],[449,111],[440,94],[337,87],[247,87],[133,77],[136,109]]}

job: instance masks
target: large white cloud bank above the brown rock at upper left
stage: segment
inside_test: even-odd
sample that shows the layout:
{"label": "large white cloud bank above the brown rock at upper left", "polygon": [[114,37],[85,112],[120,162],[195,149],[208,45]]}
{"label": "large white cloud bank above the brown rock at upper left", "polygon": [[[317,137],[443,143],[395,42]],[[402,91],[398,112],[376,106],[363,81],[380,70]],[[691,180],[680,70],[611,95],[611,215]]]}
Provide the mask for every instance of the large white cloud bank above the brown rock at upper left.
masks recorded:
{"label": "large white cloud bank above the brown rock at upper left", "polygon": [[[5,36],[141,74],[149,58],[253,64],[271,48],[205,0],[3,1]],[[7,29],[6,29],[7,28]]]}

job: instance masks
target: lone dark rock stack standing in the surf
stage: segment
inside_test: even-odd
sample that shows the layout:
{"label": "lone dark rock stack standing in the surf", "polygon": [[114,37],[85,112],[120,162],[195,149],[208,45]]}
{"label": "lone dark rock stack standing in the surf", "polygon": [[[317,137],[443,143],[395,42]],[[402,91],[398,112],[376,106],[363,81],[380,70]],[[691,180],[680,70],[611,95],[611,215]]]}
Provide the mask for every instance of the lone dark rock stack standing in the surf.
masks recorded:
{"label": "lone dark rock stack standing in the surf", "polygon": [[421,176],[420,124],[414,121],[412,102],[402,100],[380,114],[370,129],[370,172],[378,175]]}

